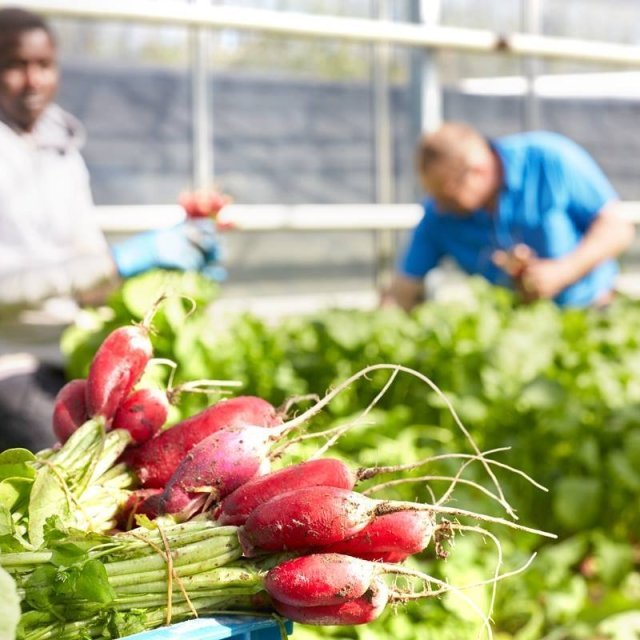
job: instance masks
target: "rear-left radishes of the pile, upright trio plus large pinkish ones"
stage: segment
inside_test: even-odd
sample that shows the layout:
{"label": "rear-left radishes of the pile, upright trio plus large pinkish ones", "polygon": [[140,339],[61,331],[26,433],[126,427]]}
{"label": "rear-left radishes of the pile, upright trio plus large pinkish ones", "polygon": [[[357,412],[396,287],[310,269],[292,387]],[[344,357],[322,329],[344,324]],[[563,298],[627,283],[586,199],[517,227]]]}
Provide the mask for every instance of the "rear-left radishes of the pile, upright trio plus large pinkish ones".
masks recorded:
{"label": "rear-left radishes of the pile, upright trio plus large pinkish ones", "polygon": [[[120,327],[105,338],[88,377],[68,382],[58,393],[53,430],[62,443],[90,419],[101,420],[107,431],[128,431],[134,446],[128,448],[124,461],[142,488],[155,490],[152,493],[167,489],[159,512],[176,513],[178,502],[186,504],[202,496],[202,489],[190,490],[192,486],[220,485],[221,474],[226,474],[228,486],[220,490],[228,493],[268,470],[265,456],[258,455],[277,435],[268,427],[281,424],[282,419],[265,400],[241,396],[216,403],[161,432],[169,411],[167,393],[136,388],[153,356],[149,333],[143,323]],[[243,456],[243,468],[229,467],[227,451]]]}

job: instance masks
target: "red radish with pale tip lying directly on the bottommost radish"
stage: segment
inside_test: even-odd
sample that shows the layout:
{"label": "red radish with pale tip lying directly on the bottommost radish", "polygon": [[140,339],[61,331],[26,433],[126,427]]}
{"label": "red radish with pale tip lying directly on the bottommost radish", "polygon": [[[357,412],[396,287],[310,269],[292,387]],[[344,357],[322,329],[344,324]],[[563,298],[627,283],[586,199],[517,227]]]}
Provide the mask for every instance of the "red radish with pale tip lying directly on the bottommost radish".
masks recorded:
{"label": "red radish with pale tip lying directly on the bottommost radish", "polygon": [[264,588],[278,602],[296,607],[340,604],[363,595],[379,565],[339,553],[314,553],[271,569]]}

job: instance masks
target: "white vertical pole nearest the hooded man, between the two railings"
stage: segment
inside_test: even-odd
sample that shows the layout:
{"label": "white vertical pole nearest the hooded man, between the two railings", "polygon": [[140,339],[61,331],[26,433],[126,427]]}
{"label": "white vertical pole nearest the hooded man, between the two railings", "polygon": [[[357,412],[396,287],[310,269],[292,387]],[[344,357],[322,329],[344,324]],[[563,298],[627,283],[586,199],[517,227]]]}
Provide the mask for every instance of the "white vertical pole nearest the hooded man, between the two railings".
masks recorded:
{"label": "white vertical pole nearest the hooded man, between the two railings", "polygon": [[[191,0],[193,5],[209,5],[209,0]],[[210,125],[208,52],[210,34],[201,25],[190,28],[190,71],[192,109],[192,180],[204,189],[213,177],[213,139]]]}

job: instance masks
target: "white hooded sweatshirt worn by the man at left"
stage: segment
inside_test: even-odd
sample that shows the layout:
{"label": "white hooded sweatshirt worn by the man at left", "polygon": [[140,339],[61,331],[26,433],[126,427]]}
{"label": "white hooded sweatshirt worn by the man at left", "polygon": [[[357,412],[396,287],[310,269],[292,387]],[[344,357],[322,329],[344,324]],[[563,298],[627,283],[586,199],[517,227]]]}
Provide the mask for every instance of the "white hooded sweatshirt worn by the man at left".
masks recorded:
{"label": "white hooded sweatshirt worn by the man at left", "polygon": [[60,362],[60,335],[78,311],[74,294],[113,277],[83,138],[80,123],[56,105],[31,133],[0,112],[0,358]]}

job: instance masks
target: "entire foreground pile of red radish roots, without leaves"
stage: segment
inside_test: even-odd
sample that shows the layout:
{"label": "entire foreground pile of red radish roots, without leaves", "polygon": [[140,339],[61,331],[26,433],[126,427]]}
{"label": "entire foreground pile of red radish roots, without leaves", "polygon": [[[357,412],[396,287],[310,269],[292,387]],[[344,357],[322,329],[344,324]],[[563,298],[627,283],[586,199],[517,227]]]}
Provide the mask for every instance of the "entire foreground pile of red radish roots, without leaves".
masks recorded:
{"label": "entire foreground pile of red radish roots, without leaves", "polygon": [[309,412],[284,422],[258,397],[221,400],[162,430],[166,394],[136,388],[152,355],[147,325],[116,329],[97,351],[87,379],[62,389],[54,412],[61,441],[87,419],[131,434],[123,461],[139,489],[123,505],[123,528],[136,515],[184,521],[207,514],[220,526],[236,526],[245,558],[284,554],[264,586],[275,611],[303,623],[367,623],[390,602],[425,597],[428,577],[418,576],[418,595],[394,589],[383,577],[416,577],[398,563],[442,530],[437,509],[356,491],[361,480],[388,468],[354,470],[322,457],[271,472],[275,445]]}

